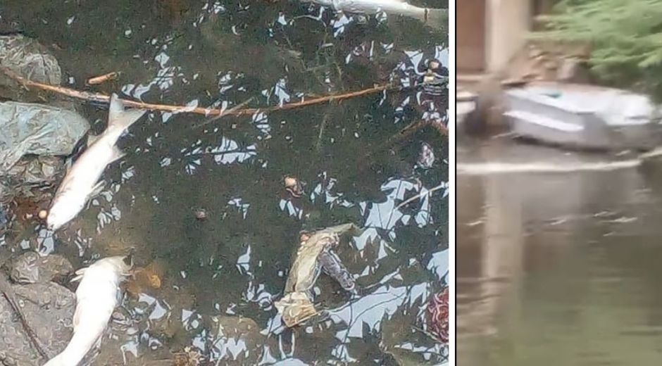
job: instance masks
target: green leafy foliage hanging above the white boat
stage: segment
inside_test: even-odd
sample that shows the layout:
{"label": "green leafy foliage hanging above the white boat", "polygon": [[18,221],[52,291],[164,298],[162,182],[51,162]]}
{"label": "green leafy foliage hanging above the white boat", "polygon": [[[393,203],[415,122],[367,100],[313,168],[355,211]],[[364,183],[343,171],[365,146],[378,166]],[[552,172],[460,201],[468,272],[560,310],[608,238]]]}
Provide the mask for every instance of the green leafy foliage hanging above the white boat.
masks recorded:
{"label": "green leafy foliage hanging above the white boat", "polygon": [[562,0],[536,37],[588,44],[597,77],[662,99],[662,0]]}

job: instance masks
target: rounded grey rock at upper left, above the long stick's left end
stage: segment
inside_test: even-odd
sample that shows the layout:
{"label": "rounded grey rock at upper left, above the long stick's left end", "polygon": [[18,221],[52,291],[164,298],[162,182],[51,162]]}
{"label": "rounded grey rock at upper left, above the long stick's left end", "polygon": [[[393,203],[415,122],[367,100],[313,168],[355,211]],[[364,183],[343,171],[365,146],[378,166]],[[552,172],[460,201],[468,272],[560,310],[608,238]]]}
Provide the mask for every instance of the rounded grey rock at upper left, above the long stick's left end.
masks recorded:
{"label": "rounded grey rock at upper left, above the long stick's left end", "polygon": [[34,82],[59,85],[62,70],[55,56],[22,34],[0,36],[0,66]]}

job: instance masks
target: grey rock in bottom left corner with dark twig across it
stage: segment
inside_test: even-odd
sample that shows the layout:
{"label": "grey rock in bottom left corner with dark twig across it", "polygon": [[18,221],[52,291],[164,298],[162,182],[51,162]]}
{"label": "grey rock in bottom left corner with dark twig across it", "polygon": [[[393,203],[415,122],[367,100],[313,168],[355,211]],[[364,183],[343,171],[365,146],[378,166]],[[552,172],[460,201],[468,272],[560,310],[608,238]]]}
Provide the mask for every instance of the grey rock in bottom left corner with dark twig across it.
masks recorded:
{"label": "grey rock in bottom left corner with dark twig across it", "polygon": [[[27,324],[37,334],[46,353],[56,355],[61,352],[72,334],[70,327],[75,309],[73,292],[53,282],[11,287],[22,305]],[[27,366],[43,365],[45,362],[32,348],[30,339],[4,296],[0,296],[0,344],[0,362]]]}

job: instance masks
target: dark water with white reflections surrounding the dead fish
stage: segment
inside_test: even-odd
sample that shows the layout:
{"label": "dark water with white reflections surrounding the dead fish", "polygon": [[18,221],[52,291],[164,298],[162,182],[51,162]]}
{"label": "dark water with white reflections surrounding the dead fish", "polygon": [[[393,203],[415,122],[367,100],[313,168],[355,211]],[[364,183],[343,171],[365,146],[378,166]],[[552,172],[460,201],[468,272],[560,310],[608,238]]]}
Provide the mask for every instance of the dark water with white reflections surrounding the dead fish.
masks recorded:
{"label": "dark water with white reflections surrounding the dead fish", "polygon": [[[273,106],[447,62],[445,34],[416,20],[297,1],[8,1],[0,16],[54,50],[68,87],[119,71],[94,89],[151,103]],[[420,119],[417,105],[414,92],[377,94],[204,127],[203,116],[149,113],[120,141],[127,156],[89,208],[55,236],[37,226],[1,249],[62,253],[79,267],[135,248],[137,264],[164,268],[161,289],[125,298],[98,365],[186,347],[217,365],[437,363],[446,349],[418,329],[446,282],[447,198],[396,206],[447,181],[447,146],[427,129],[380,150]],[[103,130],[106,111],[82,113]],[[416,168],[422,141],[437,154],[427,170]],[[306,183],[303,197],[287,198],[285,175]],[[368,228],[338,250],[359,295],[321,277],[316,301],[330,320],[286,329],[273,301],[299,231],[344,222]]]}

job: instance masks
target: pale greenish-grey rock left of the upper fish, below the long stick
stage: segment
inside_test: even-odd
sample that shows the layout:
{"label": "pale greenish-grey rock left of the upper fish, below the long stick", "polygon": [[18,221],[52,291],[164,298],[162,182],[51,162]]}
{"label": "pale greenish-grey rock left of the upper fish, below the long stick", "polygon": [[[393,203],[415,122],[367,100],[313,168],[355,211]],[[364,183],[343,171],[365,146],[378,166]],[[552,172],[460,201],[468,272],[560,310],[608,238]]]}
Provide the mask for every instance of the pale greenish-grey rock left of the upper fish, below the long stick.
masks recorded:
{"label": "pale greenish-grey rock left of the upper fish, below the long stick", "polygon": [[0,176],[24,155],[67,156],[89,130],[85,118],[37,103],[0,103]]}

